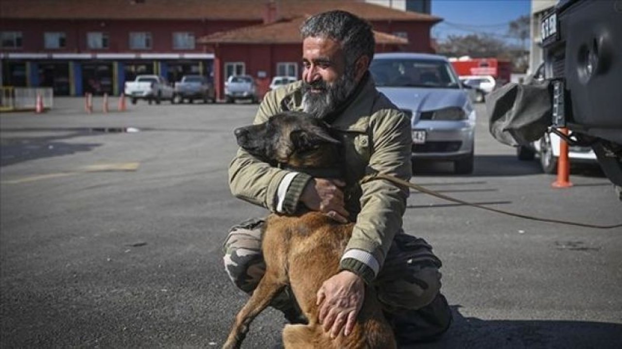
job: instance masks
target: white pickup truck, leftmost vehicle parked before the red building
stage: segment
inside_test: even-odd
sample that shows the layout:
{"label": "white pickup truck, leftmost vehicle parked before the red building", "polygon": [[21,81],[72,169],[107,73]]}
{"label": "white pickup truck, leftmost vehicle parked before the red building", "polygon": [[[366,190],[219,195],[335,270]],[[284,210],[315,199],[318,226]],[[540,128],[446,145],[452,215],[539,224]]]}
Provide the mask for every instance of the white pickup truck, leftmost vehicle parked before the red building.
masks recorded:
{"label": "white pickup truck, leftmost vehicle parked before the red building", "polygon": [[125,83],[125,95],[130,98],[132,104],[139,99],[146,99],[149,104],[156,101],[160,104],[162,99],[175,102],[175,90],[165,78],[158,75],[138,75],[134,81]]}

